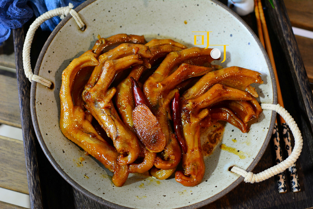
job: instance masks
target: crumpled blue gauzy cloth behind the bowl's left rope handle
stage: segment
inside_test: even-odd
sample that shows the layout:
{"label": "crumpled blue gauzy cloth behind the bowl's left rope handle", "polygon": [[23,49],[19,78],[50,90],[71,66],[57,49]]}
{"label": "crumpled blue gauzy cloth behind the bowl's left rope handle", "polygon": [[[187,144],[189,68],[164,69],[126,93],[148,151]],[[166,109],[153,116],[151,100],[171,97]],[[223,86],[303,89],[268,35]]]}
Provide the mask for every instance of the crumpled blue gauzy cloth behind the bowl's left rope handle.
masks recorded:
{"label": "crumpled blue gauzy cloth behind the bowl's left rope handle", "polygon": [[[10,36],[11,29],[21,28],[30,18],[35,15],[39,17],[43,13],[59,8],[66,7],[69,3],[74,8],[85,0],[0,0],[0,45]],[[52,31],[61,19],[51,18],[45,21],[41,28]]]}

